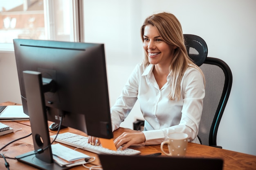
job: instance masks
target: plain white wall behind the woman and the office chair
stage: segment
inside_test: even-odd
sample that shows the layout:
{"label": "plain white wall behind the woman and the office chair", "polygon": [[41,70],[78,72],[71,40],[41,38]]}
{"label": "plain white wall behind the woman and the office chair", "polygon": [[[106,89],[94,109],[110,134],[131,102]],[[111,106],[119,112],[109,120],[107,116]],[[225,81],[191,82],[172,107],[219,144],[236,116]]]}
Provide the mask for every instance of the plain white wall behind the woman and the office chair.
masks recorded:
{"label": "plain white wall behind the woman and the office chair", "polygon": [[[85,40],[105,44],[111,105],[143,58],[139,28],[145,17],[169,11],[180,20],[184,33],[207,42],[209,57],[224,60],[232,70],[218,145],[256,155],[255,0],[84,0],[84,6]],[[0,102],[21,103],[13,53],[0,53],[0,79]],[[136,118],[141,118],[138,103],[122,126],[132,129]]]}

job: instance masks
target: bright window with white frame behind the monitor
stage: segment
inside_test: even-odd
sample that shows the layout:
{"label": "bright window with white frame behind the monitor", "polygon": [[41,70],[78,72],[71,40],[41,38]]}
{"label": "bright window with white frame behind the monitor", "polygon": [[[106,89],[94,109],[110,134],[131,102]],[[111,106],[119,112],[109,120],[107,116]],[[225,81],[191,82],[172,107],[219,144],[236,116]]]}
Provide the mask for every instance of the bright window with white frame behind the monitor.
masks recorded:
{"label": "bright window with white frame behind the monitor", "polygon": [[0,0],[0,48],[16,38],[81,41],[79,3],[82,0]]}

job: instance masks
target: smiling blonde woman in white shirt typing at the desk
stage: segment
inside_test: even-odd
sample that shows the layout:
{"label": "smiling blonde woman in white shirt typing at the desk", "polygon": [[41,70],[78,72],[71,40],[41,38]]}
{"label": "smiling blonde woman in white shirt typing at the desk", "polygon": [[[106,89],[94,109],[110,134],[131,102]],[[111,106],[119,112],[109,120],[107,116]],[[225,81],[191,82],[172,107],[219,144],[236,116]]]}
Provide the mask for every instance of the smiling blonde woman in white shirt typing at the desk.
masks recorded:
{"label": "smiling blonde woman in white shirt typing at the desk", "polygon": [[[171,13],[151,15],[141,26],[141,39],[145,60],[135,67],[110,111],[114,131],[139,100],[144,131],[123,133],[115,139],[116,147],[161,144],[174,132],[186,133],[189,142],[200,144],[204,75],[189,59],[180,22]],[[90,136],[88,142],[94,145],[95,139]]]}

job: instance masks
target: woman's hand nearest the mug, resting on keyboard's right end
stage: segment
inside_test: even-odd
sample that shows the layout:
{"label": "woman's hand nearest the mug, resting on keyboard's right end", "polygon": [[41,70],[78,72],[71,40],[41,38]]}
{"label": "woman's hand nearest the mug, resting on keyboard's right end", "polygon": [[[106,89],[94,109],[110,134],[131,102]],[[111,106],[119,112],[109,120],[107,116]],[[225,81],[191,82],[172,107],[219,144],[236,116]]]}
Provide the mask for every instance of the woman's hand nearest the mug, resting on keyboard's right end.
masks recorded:
{"label": "woman's hand nearest the mug, resting on keyboard's right end", "polygon": [[138,133],[128,133],[124,132],[121,134],[117,139],[115,139],[114,143],[117,148],[120,146],[123,146],[122,150],[128,148],[132,144],[141,144],[146,141],[146,137],[144,133],[138,132]]}

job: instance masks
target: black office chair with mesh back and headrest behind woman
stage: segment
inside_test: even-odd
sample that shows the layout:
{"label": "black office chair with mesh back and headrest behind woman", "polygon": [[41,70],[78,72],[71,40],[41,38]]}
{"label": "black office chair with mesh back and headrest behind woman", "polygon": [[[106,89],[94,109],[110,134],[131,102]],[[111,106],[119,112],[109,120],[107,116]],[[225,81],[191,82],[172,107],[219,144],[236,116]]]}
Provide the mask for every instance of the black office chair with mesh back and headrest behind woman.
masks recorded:
{"label": "black office chair with mesh back and headrest behind woman", "polygon": [[184,34],[189,57],[200,66],[205,77],[205,97],[198,137],[201,144],[217,146],[217,131],[232,86],[232,73],[221,59],[207,57],[205,41],[196,35]]}

